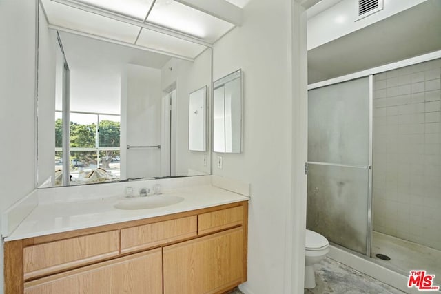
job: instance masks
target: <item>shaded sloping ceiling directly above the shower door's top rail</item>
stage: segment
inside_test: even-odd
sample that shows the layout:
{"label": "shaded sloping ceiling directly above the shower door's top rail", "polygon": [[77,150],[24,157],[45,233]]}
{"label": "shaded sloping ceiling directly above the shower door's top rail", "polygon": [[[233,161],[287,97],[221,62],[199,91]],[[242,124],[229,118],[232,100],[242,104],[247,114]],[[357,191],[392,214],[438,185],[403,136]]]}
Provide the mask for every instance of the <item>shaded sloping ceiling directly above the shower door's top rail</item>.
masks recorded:
{"label": "shaded sloping ceiling directly above the shower door's top rail", "polygon": [[429,0],[308,51],[308,83],[441,50],[441,1]]}

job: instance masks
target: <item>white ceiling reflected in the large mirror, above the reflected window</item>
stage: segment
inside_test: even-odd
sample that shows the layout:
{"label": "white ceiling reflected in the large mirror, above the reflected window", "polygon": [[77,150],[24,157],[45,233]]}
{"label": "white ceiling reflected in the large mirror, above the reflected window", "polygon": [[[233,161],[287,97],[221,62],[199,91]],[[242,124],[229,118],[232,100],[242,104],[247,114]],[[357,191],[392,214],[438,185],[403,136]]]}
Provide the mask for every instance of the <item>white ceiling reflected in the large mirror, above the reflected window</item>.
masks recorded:
{"label": "white ceiling reflected in the large mirror, above the reflected window", "polygon": [[[59,32],[70,67],[70,109],[119,114],[121,73],[127,64],[161,70],[170,56]],[[185,61],[183,61],[185,62]],[[187,61],[190,62],[190,61]],[[57,104],[61,109],[61,102]]]}

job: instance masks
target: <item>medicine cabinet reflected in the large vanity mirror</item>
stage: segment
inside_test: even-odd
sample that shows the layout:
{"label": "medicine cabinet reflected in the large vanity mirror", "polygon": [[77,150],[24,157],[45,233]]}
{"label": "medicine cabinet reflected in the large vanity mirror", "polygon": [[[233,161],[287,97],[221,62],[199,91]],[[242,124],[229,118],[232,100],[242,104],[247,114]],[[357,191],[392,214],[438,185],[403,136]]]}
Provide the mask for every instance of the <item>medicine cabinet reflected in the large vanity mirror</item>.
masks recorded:
{"label": "medicine cabinet reflected in the large vanity mirror", "polygon": [[189,94],[190,151],[207,151],[207,92],[208,87],[205,86]]}

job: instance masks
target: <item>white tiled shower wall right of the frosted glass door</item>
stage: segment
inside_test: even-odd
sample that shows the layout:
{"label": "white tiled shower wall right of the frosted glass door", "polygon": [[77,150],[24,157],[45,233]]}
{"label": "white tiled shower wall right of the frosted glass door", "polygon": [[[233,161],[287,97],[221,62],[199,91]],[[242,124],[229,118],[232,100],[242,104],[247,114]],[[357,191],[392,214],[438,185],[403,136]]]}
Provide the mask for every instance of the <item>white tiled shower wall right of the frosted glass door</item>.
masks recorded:
{"label": "white tiled shower wall right of the frosted glass door", "polygon": [[441,59],[374,76],[373,229],[441,250]]}

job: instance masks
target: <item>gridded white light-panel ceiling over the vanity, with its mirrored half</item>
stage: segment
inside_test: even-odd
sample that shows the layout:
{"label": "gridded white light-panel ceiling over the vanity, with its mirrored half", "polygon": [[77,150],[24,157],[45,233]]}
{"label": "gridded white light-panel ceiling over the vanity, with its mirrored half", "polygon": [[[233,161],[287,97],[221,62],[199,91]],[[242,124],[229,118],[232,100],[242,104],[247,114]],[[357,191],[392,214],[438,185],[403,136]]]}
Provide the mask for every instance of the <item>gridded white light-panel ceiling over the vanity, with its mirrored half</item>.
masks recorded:
{"label": "gridded white light-panel ceiling over the vanity, with its mirrored half", "polygon": [[[237,24],[174,0],[40,0],[50,28],[192,60]],[[216,0],[213,6],[231,1]],[[240,10],[234,3],[234,8]],[[205,4],[207,5],[207,4]],[[216,8],[214,8],[216,10]],[[216,16],[218,17],[216,17]]]}

